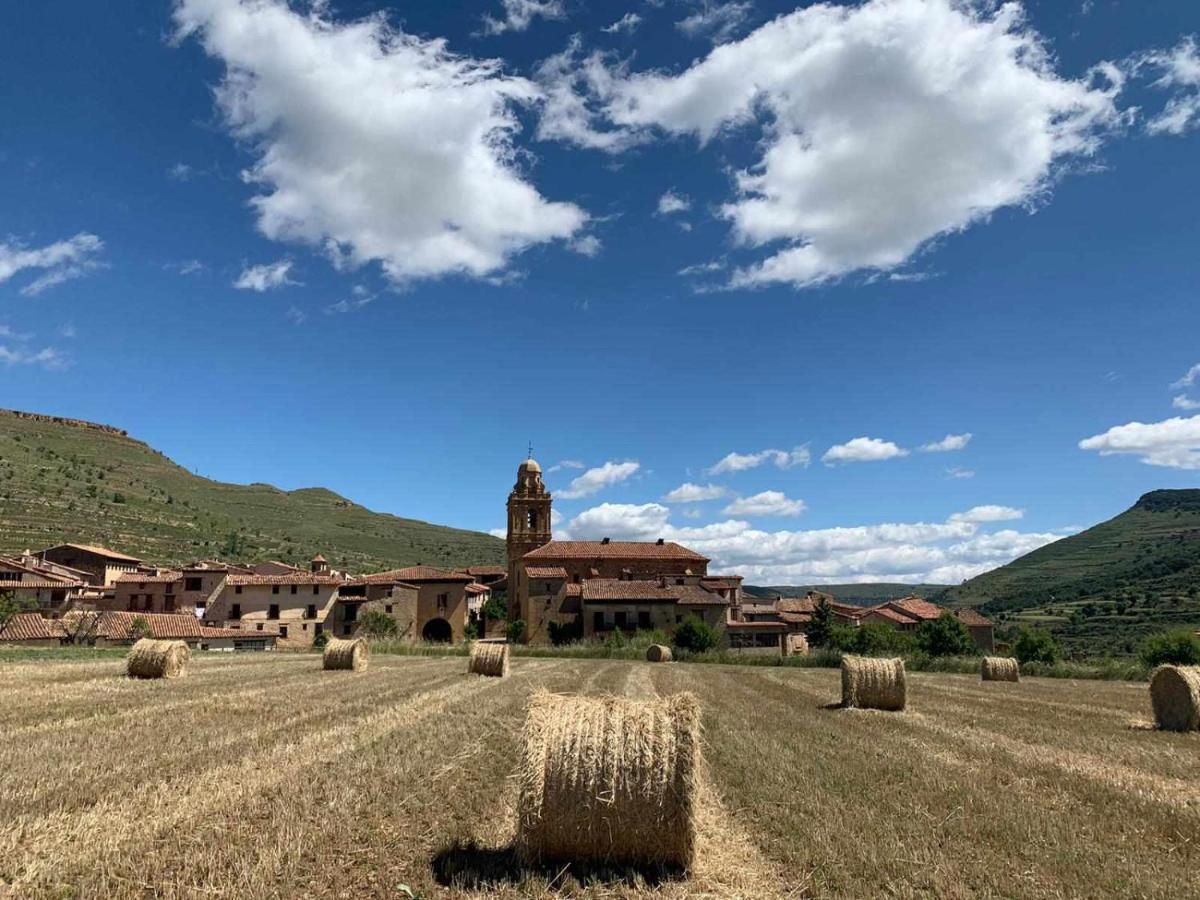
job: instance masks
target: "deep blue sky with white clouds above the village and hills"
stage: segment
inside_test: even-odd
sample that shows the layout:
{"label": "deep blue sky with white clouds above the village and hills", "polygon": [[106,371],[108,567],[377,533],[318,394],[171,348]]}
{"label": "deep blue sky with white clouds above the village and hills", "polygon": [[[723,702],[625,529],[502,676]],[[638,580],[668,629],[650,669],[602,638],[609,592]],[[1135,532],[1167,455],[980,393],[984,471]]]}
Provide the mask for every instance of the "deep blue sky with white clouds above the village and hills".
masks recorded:
{"label": "deep blue sky with white clouds above the village and hills", "polygon": [[533,442],[560,535],[958,581],[1196,486],[1198,32],[10,4],[0,403],[481,530]]}

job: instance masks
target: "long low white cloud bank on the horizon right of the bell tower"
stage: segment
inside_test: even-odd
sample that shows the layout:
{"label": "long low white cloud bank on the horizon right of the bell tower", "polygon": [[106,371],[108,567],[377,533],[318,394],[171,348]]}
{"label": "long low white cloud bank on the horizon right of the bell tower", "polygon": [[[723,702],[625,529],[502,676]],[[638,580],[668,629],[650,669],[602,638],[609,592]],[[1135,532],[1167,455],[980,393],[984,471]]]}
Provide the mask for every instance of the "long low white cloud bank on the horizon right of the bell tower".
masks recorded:
{"label": "long low white cloud bank on the horizon right of the bell tower", "polygon": [[956,583],[1064,536],[1063,532],[985,533],[977,522],[912,522],[768,532],[730,518],[680,527],[659,503],[605,503],[572,518],[578,540],[674,540],[703,553],[710,571],[760,584],[839,581]]}

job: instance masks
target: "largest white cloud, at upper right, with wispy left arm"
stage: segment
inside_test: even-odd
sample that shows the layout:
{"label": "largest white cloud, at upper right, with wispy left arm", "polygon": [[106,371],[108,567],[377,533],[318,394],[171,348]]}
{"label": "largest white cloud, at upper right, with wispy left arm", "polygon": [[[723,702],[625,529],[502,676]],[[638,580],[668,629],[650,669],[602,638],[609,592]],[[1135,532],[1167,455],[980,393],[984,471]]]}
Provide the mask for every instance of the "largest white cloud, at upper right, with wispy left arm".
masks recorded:
{"label": "largest white cloud, at upper right, with wispy left arm", "polygon": [[[1058,77],[1016,4],[868,0],[781,16],[679,74],[593,72],[580,103],[607,120],[610,150],[757,126],[762,157],[721,212],[767,256],[730,283],[802,288],[896,270],[940,235],[1036,205],[1127,120],[1122,82],[1108,64]],[[595,132],[590,118],[577,130]]]}

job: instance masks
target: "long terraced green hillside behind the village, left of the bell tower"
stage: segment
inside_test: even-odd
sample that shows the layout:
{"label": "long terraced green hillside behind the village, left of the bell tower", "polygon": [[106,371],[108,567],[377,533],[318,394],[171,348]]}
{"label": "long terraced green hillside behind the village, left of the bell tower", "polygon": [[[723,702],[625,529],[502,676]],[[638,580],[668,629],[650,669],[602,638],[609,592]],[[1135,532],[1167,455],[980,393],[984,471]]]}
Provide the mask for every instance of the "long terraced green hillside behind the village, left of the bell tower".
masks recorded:
{"label": "long terraced green hillside behind the village, left of the bell tower", "polygon": [[124,432],[0,410],[0,548],[101,544],[152,563],[205,557],[349,571],[503,564],[504,541],[372,512],[332,491],[199,478]]}

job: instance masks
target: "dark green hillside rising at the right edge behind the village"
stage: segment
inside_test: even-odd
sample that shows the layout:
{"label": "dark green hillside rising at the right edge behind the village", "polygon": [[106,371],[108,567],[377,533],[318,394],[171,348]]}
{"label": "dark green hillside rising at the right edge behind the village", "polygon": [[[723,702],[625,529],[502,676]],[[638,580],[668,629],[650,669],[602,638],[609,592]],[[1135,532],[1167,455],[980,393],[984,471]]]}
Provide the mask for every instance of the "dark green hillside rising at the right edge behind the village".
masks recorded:
{"label": "dark green hillside rising at the right edge behind the village", "polygon": [[1152,631],[1200,628],[1200,490],[1152,491],[937,599],[1048,626],[1078,652],[1130,652]]}

